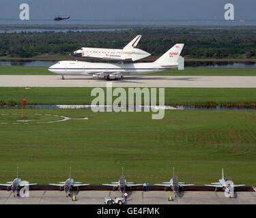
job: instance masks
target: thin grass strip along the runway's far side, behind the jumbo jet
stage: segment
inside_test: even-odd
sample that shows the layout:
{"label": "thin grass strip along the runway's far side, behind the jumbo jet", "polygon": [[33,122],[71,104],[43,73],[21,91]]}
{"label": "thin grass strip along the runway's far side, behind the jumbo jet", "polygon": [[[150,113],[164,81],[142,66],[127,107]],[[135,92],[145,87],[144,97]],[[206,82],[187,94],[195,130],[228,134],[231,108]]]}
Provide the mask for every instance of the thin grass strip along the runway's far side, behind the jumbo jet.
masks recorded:
{"label": "thin grass strip along the runway's far side, behind the jumbo jet", "polygon": [[[0,75],[56,75],[48,67],[0,66]],[[147,74],[149,76],[256,76],[255,68],[198,68],[186,67]],[[147,76],[146,75],[146,76]]]}

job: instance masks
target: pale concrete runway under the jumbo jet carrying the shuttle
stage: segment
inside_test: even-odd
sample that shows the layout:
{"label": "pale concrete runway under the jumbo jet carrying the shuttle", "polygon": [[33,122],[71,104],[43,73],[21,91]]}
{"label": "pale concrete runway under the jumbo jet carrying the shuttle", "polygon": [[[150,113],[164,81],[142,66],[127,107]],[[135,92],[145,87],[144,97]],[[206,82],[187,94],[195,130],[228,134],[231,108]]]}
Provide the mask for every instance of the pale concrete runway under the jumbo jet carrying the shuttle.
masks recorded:
{"label": "pale concrete runway under the jumbo jet carrying the shuttle", "polygon": [[[0,87],[106,87],[91,76],[0,75]],[[113,87],[256,88],[256,76],[126,76]]]}

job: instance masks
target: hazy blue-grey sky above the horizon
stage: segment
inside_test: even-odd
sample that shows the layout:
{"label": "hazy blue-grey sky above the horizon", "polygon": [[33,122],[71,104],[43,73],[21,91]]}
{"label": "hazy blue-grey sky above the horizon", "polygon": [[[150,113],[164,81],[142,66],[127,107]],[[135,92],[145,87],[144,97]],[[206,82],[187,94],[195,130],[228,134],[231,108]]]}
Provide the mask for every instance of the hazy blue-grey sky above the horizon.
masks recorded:
{"label": "hazy blue-grey sky above the horizon", "polygon": [[1,0],[0,20],[18,19],[21,3],[29,4],[31,20],[224,20],[225,3],[233,3],[236,20],[256,20],[255,0]]}

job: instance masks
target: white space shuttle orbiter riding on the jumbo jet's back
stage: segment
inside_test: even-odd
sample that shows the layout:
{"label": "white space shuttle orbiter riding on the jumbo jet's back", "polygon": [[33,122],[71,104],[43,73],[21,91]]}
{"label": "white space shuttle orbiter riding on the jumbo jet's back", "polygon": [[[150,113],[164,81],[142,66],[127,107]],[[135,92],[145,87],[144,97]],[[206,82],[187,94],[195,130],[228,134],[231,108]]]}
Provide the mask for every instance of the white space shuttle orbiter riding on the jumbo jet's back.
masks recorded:
{"label": "white space shuttle orbiter riding on the jumbo jet's back", "polygon": [[86,59],[99,59],[108,61],[126,61],[132,62],[150,56],[139,48],[135,48],[141,40],[141,35],[137,35],[134,39],[123,49],[110,48],[81,48],[72,52],[70,55],[76,57],[85,57]]}

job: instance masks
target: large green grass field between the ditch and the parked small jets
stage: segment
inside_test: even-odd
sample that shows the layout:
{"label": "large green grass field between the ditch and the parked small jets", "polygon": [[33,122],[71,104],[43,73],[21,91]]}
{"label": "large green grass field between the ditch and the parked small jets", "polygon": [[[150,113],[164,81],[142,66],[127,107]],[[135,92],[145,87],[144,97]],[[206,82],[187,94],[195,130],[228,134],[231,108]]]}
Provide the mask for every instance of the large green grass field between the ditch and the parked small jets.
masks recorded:
{"label": "large green grass field between the ditch and the parked small jets", "polygon": [[[19,110],[0,110],[0,114]],[[46,185],[64,181],[216,182],[224,168],[234,183],[256,185],[256,111],[172,110],[162,120],[150,112],[25,110],[72,118],[62,123],[0,124],[0,183],[12,181],[16,167],[24,180]]]}

